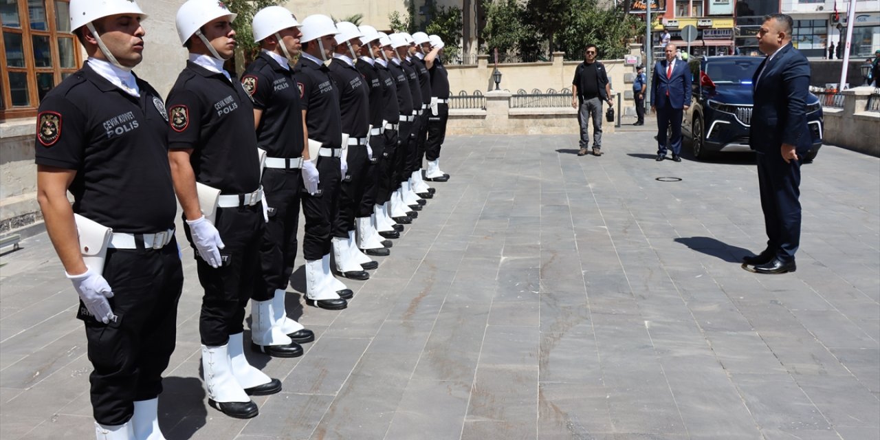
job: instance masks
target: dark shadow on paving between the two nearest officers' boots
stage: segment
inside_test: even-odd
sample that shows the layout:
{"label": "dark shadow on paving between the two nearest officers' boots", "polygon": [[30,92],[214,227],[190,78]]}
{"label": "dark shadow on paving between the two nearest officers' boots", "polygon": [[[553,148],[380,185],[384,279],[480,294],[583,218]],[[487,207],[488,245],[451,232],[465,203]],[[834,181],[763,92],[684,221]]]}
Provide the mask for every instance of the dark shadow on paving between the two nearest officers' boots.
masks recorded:
{"label": "dark shadow on paving between the two nearest officers' boots", "polygon": [[199,378],[168,377],[162,379],[162,388],[159,428],[168,438],[192,438],[205,426],[208,418],[208,400],[202,381]]}

